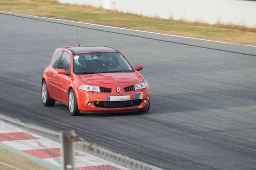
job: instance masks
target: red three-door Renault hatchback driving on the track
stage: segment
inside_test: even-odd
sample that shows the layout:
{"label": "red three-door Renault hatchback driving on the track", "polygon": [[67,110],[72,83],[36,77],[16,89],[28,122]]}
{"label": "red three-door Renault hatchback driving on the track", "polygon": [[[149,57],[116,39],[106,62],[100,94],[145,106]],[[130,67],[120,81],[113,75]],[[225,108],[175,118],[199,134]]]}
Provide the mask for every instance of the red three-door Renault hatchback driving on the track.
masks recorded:
{"label": "red three-door Renault hatchback driving on the track", "polygon": [[42,77],[44,106],[55,101],[80,112],[147,112],[150,107],[148,83],[130,61],[107,46],[64,46],[55,49]]}

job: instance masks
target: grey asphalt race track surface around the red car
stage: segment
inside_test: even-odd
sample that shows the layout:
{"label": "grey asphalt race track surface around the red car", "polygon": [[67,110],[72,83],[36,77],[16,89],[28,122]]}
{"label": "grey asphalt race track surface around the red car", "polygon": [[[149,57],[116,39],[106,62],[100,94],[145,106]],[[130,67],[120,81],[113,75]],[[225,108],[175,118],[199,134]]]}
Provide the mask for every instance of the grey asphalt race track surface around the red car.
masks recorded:
{"label": "grey asphalt race track surface around the red car", "polygon": [[[41,102],[58,46],[112,46],[151,89],[148,113],[69,115]],[[167,170],[256,168],[256,47],[0,14],[0,112]]]}

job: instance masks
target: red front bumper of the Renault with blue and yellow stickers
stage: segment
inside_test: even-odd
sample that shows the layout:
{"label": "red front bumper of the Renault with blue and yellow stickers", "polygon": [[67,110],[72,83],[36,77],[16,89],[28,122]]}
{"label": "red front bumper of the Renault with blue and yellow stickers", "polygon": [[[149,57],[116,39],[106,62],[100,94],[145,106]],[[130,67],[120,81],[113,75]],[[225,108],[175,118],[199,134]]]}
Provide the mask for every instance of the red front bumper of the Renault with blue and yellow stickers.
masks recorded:
{"label": "red front bumper of the Renault with blue and yellow stickers", "polygon": [[[126,86],[119,86],[120,92],[116,91],[116,85],[113,84],[104,84],[104,87],[112,88],[112,92],[87,92],[77,89],[78,109],[86,113],[100,113],[143,111],[149,107],[150,92],[148,87],[130,92],[125,92],[124,87]],[[108,96],[123,95],[130,95],[130,101],[108,101]],[[145,100],[147,101],[146,103],[144,103]],[[88,103],[91,103],[91,106]]]}

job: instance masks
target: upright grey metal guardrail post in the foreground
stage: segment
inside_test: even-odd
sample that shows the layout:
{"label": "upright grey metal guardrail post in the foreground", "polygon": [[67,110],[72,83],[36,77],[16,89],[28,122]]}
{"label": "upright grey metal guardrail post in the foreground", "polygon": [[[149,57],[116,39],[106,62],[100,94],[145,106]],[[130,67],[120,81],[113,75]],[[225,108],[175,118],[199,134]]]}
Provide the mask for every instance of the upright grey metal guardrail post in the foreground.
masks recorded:
{"label": "upright grey metal guardrail post in the foreground", "polygon": [[[75,165],[75,142],[72,140],[76,137],[74,131],[61,132],[61,170],[76,170]],[[71,140],[70,140],[71,138]]]}

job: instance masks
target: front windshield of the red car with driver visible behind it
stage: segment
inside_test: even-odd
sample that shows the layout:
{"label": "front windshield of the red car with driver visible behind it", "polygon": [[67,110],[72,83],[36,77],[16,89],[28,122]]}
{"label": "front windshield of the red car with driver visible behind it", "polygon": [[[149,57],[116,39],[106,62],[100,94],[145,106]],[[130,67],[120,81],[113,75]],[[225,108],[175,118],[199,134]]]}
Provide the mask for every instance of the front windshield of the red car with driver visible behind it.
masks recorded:
{"label": "front windshield of the red car with driver visible behind it", "polygon": [[77,74],[134,72],[134,69],[120,53],[95,52],[74,55],[74,72]]}

